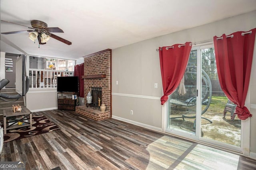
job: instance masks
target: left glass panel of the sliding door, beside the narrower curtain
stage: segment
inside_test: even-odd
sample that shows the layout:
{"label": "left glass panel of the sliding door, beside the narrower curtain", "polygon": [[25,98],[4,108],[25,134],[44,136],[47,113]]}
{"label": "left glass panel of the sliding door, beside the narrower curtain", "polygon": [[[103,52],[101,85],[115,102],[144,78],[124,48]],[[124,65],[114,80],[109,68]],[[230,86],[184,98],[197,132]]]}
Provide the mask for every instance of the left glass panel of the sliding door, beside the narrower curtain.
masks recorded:
{"label": "left glass panel of the sliding door, beside the narrower curtain", "polygon": [[197,55],[192,50],[180,85],[170,95],[169,129],[195,135],[197,97]]}

